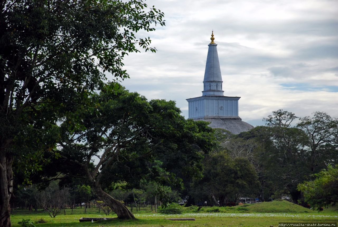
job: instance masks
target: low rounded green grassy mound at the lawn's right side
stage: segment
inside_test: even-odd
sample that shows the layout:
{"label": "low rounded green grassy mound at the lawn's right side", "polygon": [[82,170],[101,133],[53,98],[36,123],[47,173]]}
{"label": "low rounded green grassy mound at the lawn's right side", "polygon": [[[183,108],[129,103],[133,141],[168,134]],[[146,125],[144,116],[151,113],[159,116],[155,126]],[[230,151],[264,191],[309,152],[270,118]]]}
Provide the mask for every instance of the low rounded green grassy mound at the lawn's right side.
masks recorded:
{"label": "low rounded green grassy mound at the lawn's right side", "polygon": [[258,213],[316,213],[313,210],[288,202],[286,200],[274,200],[256,204],[244,204],[250,212]]}

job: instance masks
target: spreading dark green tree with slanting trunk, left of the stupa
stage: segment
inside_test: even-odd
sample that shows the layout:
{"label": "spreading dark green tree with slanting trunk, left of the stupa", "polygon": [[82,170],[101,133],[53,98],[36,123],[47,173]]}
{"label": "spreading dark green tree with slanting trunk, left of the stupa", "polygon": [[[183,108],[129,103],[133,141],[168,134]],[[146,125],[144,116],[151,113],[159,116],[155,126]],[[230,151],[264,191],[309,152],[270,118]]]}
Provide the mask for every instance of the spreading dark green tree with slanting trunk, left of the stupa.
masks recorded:
{"label": "spreading dark green tree with slanting trunk, left of the stupa", "polygon": [[137,188],[141,181],[181,186],[174,172],[195,175],[201,171],[199,152],[213,148],[213,130],[206,122],[185,120],[174,101],[147,101],[137,93],[122,88],[116,92],[112,87],[107,85],[93,95],[95,106],[80,113],[82,127],[69,130],[69,120],[64,120],[57,152],[60,162],[68,166],[65,174],[86,178],[119,218],[131,219],[134,215],[128,208],[105,189],[121,182]]}

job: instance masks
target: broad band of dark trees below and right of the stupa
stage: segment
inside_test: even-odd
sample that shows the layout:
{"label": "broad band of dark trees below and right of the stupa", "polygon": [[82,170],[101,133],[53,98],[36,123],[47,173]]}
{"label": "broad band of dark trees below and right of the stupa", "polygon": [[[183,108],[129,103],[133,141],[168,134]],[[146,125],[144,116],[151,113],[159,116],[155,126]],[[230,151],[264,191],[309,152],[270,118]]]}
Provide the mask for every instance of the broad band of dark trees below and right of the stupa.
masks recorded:
{"label": "broad band of dark trees below and right of the stupa", "polygon": [[278,110],[263,121],[266,126],[239,135],[215,130],[219,146],[204,155],[203,177],[187,181],[185,193],[194,198],[188,205],[222,206],[239,197],[310,203],[298,185],[338,163],[338,120],[324,112],[298,118]]}

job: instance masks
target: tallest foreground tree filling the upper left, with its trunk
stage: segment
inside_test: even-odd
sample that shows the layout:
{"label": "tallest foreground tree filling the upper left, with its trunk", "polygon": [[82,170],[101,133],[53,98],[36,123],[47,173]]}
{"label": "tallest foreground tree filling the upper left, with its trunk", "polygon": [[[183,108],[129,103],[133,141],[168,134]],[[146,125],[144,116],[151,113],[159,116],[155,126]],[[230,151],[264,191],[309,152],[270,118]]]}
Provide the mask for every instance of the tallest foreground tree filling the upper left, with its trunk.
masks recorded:
{"label": "tallest foreground tree filling the upper left, with its trunk", "polygon": [[33,127],[36,121],[76,117],[105,71],[128,77],[125,54],[139,47],[155,51],[149,38],[137,39],[135,32],[164,21],[160,10],[139,0],[4,0],[0,7],[0,226],[10,226],[14,160],[52,147],[41,141],[38,149],[21,152],[18,134],[34,127],[40,134],[50,131]]}

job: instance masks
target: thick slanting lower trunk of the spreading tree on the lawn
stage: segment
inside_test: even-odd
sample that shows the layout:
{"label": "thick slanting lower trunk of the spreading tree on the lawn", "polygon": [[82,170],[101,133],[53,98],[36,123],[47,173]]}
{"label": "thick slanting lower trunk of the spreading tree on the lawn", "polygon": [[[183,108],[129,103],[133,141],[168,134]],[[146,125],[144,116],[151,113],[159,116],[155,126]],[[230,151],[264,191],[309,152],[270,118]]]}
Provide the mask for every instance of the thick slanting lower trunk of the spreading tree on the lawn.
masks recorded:
{"label": "thick slanting lower trunk of the spreading tree on the lawn", "polygon": [[117,214],[119,219],[136,219],[130,210],[123,205],[123,203],[117,201],[103,191],[100,185],[94,185],[93,189],[96,195]]}

